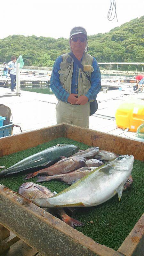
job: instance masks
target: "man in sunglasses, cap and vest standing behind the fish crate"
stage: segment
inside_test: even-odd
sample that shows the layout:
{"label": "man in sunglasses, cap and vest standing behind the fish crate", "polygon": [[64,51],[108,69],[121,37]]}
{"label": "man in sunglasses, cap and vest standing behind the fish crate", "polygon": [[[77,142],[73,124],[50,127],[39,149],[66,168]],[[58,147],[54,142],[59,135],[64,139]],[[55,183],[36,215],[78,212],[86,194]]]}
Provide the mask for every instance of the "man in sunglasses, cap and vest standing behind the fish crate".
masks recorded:
{"label": "man in sunglasses, cap and vest standing behind the fish crate", "polygon": [[81,64],[91,66],[91,70],[84,73],[68,53],[56,59],[50,87],[59,100],[57,124],[64,122],[89,128],[90,101],[96,99],[101,88],[100,69],[96,59],[87,53],[87,32],[83,27],[72,28],[69,45]]}

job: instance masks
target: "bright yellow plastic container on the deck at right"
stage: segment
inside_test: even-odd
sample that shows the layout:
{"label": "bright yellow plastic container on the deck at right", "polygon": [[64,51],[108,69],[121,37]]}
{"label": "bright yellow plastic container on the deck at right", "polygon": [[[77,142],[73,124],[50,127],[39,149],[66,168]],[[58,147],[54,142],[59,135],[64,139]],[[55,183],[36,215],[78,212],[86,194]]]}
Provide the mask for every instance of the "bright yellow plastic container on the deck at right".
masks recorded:
{"label": "bright yellow plastic container on the deck at right", "polygon": [[116,110],[116,124],[118,127],[129,128],[131,132],[136,132],[137,128],[144,122],[144,101],[127,100]]}

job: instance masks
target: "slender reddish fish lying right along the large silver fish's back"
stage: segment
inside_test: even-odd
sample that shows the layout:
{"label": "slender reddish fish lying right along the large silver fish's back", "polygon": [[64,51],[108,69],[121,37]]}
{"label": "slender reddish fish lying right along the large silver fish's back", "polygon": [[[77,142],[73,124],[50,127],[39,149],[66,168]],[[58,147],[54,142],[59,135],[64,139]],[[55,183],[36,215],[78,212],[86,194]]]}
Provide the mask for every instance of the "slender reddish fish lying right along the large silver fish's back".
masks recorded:
{"label": "slender reddish fish lying right along the large silver fish's back", "polygon": [[80,180],[82,177],[87,175],[89,172],[92,172],[97,167],[81,167],[74,172],[52,175],[52,176],[39,176],[36,182],[49,181],[49,180],[61,180],[67,184],[73,184],[77,180]]}

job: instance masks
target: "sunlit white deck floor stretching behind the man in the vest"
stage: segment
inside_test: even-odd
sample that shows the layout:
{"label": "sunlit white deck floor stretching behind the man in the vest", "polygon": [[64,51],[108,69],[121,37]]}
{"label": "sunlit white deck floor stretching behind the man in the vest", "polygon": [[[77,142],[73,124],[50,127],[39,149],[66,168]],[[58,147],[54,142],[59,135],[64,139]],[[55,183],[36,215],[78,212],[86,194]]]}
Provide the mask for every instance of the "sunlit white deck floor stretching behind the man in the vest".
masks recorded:
{"label": "sunlit white deck floor stretching behind the man in the vest", "polygon": [[[13,97],[6,97],[9,94]],[[0,87],[0,95],[5,96],[0,98],[0,103],[11,108],[12,122],[20,125],[23,132],[56,124],[55,95],[21,91],[22,96],[17,97],[10,89],[2,87]],[[100,92],[97,97],[98,110],[96,114],[90,116],[89,128],[127,138],[124,131],[116,125],[115,113],[118,105],[128,98],[144,99],[144,92],[134,93],[133,90]],[[13,134],[18,133],[20,129],[14,127]],[[135,138],[135,132],[127,132],[127,134]]]}

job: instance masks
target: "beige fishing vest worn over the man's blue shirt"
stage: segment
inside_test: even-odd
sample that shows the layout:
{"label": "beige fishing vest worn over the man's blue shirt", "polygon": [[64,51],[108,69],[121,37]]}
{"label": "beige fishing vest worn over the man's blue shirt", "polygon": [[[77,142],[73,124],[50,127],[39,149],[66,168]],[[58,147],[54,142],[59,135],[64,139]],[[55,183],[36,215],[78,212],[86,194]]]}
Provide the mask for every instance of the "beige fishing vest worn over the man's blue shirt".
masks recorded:
{"label": "beige fishing vest worn over the man's blue shirt", "polygon": [[[84,52],[82,65],[92,65],[93,57],[89,55],[87,52]],[[62,62],[60,63],[60,70],[58,71],[60,74],[60,83],[62,87],[68,92],[71,93],[71,83],[72,83],[72,74],[73,74],[73,62],[72,57],[65,53],[62,55]],[[85,95],[91,87],[91,83],[86,77],[86,74],[91,77],[91,73],[84,73],[81,68],[79,68],[78,72],[78,97],[81,95]]]}

